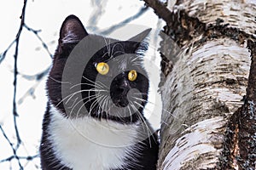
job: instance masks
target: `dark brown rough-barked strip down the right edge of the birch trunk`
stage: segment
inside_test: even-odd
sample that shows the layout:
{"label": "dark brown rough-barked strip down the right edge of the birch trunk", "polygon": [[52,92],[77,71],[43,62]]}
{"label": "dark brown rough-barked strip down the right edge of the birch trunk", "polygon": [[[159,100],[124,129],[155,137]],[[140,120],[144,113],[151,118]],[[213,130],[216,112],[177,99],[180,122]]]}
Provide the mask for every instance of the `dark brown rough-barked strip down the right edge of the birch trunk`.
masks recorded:
{"label": "dark brown rough-barked strip down the right edge of the birch trunk", "polygon": [[256,42],[248,41],[252,63],[247,85],[247,97],[239,115],[239,167],[253,169],[256,166]]}

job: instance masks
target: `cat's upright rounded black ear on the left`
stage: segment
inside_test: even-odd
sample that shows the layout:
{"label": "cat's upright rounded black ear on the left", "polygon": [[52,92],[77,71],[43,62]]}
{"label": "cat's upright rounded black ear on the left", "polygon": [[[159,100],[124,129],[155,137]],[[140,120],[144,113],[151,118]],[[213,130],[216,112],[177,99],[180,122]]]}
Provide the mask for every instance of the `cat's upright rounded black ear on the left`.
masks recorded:
{"label": "cat's upright rounded black ear on the left", "polygon": [[82,22],[77,16],[72,14],[67,16],[61,26],[59,43],[79,42],[87,35],[88,33]]}

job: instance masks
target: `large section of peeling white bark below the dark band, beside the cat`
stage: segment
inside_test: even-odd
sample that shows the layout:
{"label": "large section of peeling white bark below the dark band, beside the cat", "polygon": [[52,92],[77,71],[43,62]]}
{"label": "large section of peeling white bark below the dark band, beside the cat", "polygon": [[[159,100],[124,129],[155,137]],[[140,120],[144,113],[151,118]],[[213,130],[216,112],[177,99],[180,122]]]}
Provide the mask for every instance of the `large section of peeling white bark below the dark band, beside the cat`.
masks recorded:
{"label": "large section of peeling white bark below the dark band, beside the cat", "polygon": [[161,88],[163,107],[172,114],[162,116],[160,169],[213,168],[226,124],[243,104],[250,53],[230,38],[183,51]]}

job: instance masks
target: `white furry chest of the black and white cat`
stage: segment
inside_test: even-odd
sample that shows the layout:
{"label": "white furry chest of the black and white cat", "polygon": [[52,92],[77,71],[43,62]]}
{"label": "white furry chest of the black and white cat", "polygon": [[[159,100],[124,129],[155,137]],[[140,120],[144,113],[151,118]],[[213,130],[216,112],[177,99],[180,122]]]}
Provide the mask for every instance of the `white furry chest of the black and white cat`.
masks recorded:
{"label": "white furry chest of the black and white cat", "polygon": [[[97,121],[84,117],[67,119],[51,106],[49,140],[61,163],[73,170],[109,169],[125,165],[125,156],[136,154],[138,125]],[[131,154],[132,153],[132,154]]]}

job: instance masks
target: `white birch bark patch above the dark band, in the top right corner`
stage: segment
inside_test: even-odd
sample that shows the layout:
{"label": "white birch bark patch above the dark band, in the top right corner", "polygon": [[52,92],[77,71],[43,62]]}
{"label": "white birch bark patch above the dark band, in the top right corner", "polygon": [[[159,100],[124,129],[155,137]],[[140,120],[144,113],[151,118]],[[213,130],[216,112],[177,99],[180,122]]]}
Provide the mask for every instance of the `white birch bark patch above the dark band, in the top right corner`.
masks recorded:
{"label": "white birch bark patch above the dark band, in the top right corner", "polygon": [[214,25],[215,20],[220,19],[229,23],[228,27],[256,36],[254,3],[247,0],[192,0],[177,1],[176,8],[183,8],[189,17],[197,18],[207,26]]}

